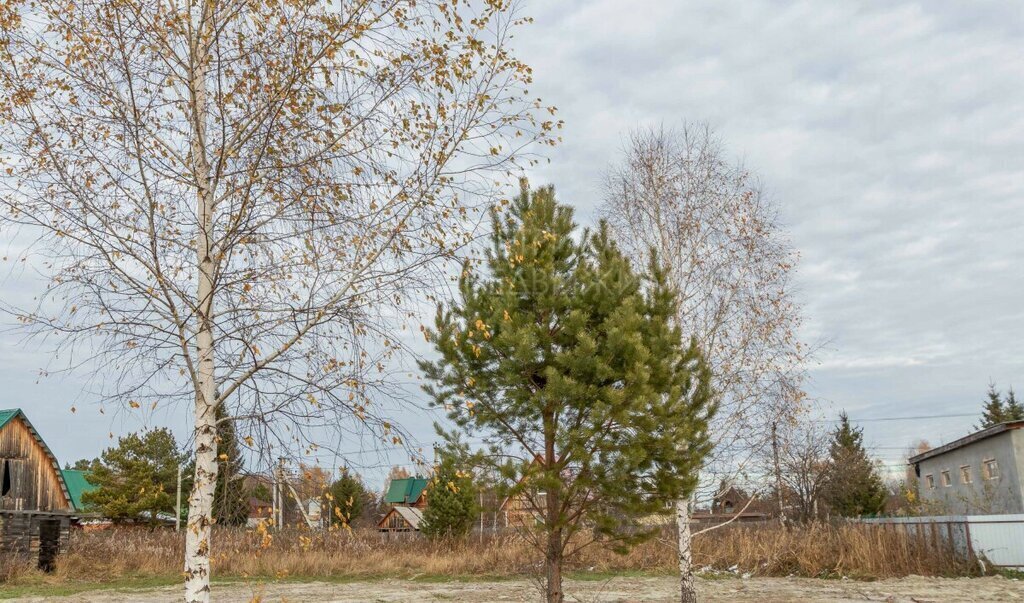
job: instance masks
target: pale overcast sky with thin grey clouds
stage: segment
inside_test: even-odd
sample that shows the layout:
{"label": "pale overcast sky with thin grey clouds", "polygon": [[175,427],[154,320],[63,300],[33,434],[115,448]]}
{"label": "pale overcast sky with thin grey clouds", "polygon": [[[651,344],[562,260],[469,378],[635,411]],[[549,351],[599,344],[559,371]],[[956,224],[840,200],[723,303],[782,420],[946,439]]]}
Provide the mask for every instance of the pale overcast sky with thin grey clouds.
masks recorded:
{"label": "pale overcast sky with thin grey clouds", "polygon": [[[532,0],[523,10],[535,23],[514,43],[534,68],[530,94],[565,121],[531,181],[555,184],[592,223],[601,174],[631,129],[709,123],[775,200],[801,254],[819,416],[848,412],[896,468],[913,441],[950,441],[977,419],[887,419],[977,414],[989,382],[1024,393],[1024,3]],[[7,278],[0,295],[31,287]],[[61,461],[139,428],[94,405],[71,414],[81,378],[40,379],[46,359],[7,331],[0,360],[0,407],[25,408]],[[425,441],[430,419],[410,419]]]}

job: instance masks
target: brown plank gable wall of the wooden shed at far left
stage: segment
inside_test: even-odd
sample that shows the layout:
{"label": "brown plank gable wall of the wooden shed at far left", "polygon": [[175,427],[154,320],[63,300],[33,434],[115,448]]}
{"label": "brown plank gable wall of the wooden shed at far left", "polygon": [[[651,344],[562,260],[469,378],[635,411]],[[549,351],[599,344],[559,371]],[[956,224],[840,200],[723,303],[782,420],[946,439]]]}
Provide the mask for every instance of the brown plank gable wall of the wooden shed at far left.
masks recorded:
{"label": "brown plank gable wall of the wooden shed at far left", "polygon": [[0,496],[0,510],[72,510],[53,459],[20,418],[0,428],[0,479],[5,470],[11,488]]}

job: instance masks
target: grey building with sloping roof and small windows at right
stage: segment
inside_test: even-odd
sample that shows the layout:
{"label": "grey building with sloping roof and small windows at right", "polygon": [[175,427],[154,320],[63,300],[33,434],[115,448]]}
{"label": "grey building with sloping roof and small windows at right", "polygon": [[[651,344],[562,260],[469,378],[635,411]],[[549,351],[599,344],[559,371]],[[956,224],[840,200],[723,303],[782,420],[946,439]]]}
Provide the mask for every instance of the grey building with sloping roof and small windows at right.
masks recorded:
{"label": "grey building with sloping roof and small windows at right", "polygon": [[937,513],[1024,513],[1024,421],[993,425],[909,462],[922,502]]}

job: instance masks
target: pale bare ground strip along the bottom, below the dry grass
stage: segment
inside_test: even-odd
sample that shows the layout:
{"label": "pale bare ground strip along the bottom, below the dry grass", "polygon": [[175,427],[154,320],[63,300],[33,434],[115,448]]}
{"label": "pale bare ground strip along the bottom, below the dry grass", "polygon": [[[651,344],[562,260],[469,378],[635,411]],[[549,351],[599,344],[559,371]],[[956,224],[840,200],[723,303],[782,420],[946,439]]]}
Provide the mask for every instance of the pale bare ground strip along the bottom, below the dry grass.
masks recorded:
{"label": "pale bare ground strip along the bottom, below the dry grass", "polygon": [[[925,603],[947,601],[1024,601],[1024,582],[1002,577],[935,578],[909,576],[878,582],[814,578],[725,578],[698,583],[705,601],[880,601],[885,603]],[[672,577],[615,577],[608,580],[567,580],[566,600],[577,602],[676,601],[676,582]],[[59,601],[78,603],[173,603],[180,600],[180,589],[168,587],[143,591],[93,591],[69,597],[29,597],[13,599],[18,603]],[[345,584],[276,583],[221,585],[214,590],[214,601],[244,602],[332,602],[365,601],[539,601],[539,585],[529,580],[422,583],[379,580]]]}

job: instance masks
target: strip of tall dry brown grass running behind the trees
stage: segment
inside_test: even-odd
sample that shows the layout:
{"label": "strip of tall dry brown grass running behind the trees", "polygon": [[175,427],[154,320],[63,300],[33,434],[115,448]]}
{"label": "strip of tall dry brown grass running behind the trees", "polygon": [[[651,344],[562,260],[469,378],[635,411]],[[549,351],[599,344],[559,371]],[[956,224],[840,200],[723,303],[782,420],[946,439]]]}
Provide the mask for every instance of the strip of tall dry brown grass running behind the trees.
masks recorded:
{"label": "strip of tall dry brown grass running behind the trees", "polygon": [[[73,548],[58,559],[47,582],[114,582],[179,575],[183,536],[171,531],[109,530],[76,533]],[[570,570],[601,573],[671,573],[677,567],[671,534],[627,555],[600,547],[586,549]],[[463,542],[384,541],[374,532],[313,535],[286,531],[267,540],[254,531],[218,529],[214,573],[243,578],[359,578],[446,575],[498,577],[537,574],[541,557],[515,535]],[[929,546],[880,526],[840,524],[783,529],[728,526],[698,536],[697,566],[754,575],[858,578],[970,575],[975,564],[957,560],[943,547]],[[25,564],[0,563],[0,583],[40,579]]]}

